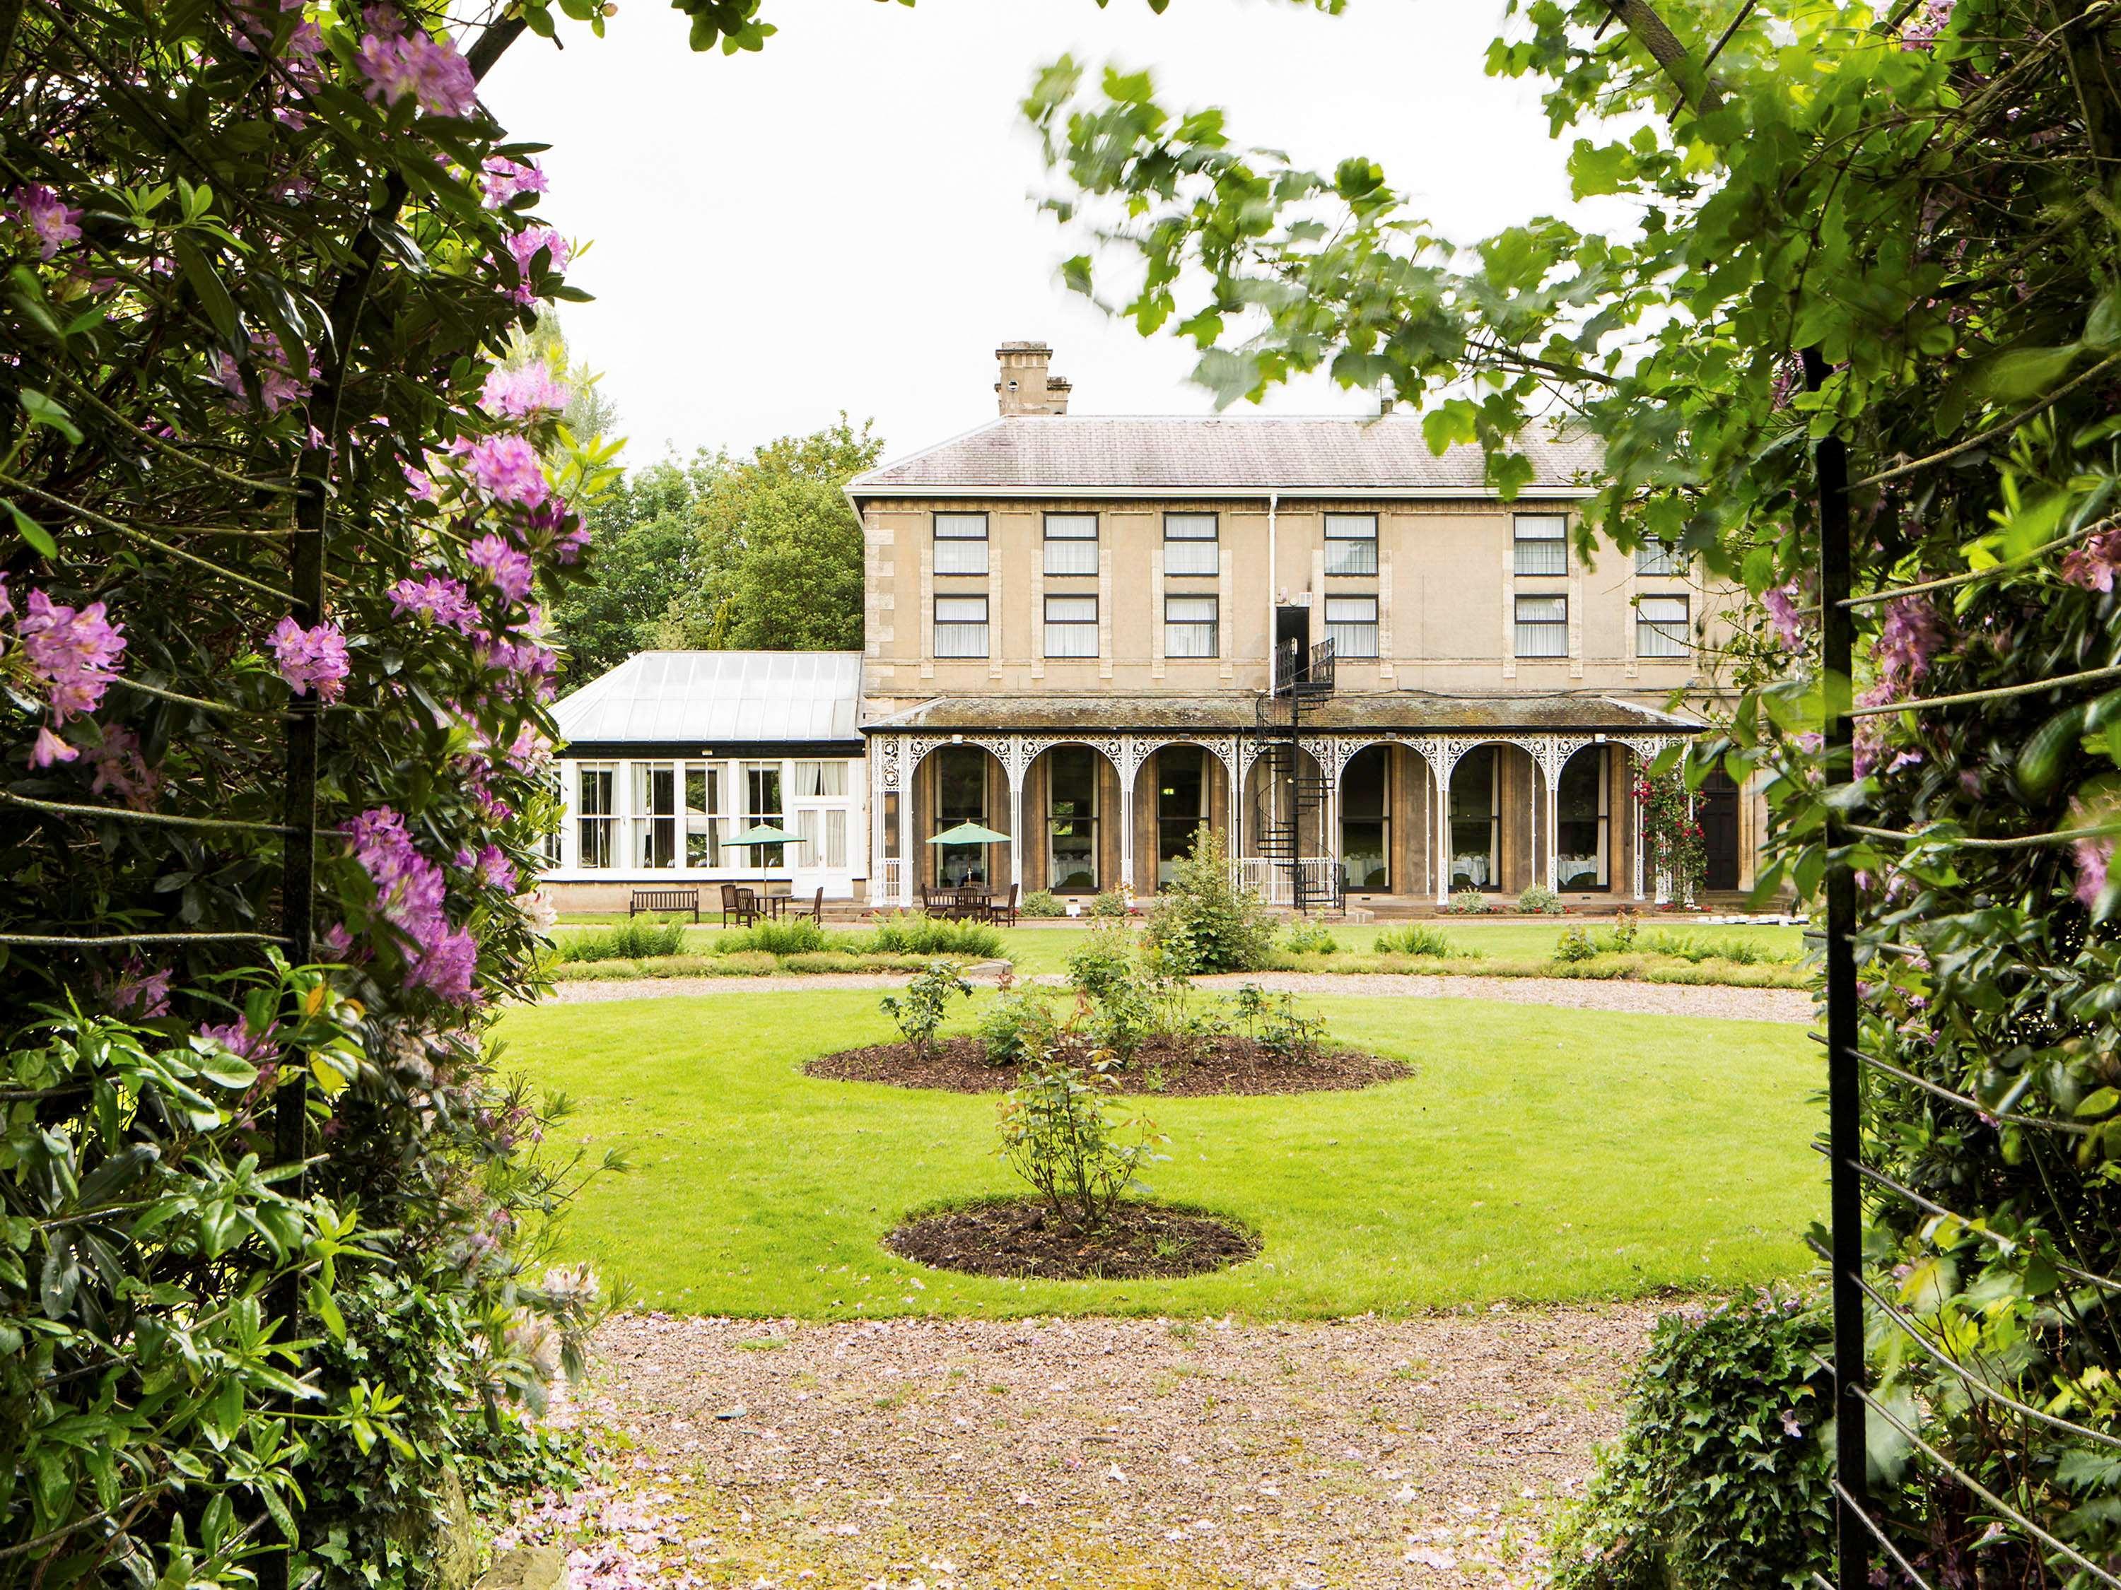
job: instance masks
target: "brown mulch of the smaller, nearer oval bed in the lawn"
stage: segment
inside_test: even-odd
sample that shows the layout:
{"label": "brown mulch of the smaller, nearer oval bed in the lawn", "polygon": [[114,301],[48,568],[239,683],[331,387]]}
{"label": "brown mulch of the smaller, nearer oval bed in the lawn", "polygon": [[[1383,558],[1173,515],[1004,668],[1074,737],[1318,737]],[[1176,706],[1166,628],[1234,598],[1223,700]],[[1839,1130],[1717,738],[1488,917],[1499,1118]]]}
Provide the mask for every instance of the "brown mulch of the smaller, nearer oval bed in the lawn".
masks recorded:
{"label": "brown mulch of the smaller, nearer oval bed in the lawn", "polygon": [[974,1276],[1145,1280],[1243,1264],[1260,1240],[1188,1208],[1124,1200],[1097,1236],[1071,1230],[1035,1198],[988,1200],[912,1219],[884,1247],[916,1264]]}

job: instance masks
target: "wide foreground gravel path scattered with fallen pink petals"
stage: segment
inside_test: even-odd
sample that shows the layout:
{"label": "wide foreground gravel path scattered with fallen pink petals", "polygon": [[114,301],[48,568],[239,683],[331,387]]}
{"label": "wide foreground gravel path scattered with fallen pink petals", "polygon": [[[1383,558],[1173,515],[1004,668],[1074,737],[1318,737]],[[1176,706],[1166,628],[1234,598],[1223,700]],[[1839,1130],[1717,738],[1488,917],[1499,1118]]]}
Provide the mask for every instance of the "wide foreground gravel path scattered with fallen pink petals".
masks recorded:
{"label": "wide foreground gravel path scattered with fallen pink petals", "polygon": [[628,1314],[592,1406],[655,1584],[1489,1590],[1536,1582],[1650,1319]]}

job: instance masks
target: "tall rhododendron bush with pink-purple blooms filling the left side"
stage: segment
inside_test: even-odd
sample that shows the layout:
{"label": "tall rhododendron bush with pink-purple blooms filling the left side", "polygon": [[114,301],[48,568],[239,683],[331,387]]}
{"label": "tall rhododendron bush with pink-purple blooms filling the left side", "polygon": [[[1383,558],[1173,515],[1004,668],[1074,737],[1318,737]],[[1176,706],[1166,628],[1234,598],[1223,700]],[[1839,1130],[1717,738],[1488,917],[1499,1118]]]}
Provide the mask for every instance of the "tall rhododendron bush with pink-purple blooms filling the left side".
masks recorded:
{"label": "tall rhododendron bush with pink-purple blooms filling the left side", "polygon": [[615,471],[494,369],[554,17],[445,23],[0,0],[0,1584],[422,1582],[564,1456],[585,1166],[488,1024]]}

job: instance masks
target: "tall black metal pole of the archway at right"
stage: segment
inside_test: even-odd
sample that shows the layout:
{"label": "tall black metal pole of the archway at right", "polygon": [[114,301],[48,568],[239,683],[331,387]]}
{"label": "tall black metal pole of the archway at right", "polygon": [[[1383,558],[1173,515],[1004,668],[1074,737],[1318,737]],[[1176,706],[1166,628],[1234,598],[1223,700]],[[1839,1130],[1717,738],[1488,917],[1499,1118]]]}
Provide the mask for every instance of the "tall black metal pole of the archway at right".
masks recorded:
{"label": "tall black metal pole of the archway at right", "polygon": [[[1826,379],[1826,360],[1807,348],[1805,384]],[[1811,452],[1820,490],[1820,604],[1826,672],[1826,1147],[1828,1219],[1833,1225],[1835,1308],[1835,1471],[1841,1480],[1835,1501],[1835,1552],[1839,1590],[1862,1590],[1871,1579],[1871,1535],[1866,1509],[1864,1444],[1864,1346],[1862,1346],[1862,1073],[1856,1060],[1856,873],[1843,854],[1841,808],[1833,789],[1854,774],[1852,702],[1854,619],[1850,596],[1850,498],[1847,445],[1822,437]]]}

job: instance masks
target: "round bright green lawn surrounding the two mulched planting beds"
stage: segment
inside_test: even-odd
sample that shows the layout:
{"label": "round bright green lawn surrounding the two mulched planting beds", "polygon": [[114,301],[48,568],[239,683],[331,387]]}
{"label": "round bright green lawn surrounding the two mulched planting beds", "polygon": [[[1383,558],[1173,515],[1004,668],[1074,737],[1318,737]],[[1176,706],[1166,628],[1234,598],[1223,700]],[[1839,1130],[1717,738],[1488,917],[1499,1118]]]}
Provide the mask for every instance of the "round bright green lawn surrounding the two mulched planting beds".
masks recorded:
{"label": "round bright green lawn surrounding the two mulched planting beds", "polygon": [[1016,1183],[991,1153],[995,1098],[800,1075],[814,1054],[891,1037],[870,994],[543,1005],[501,1035],[507,1064],[575,1098],[568,1141],[632,1160],[590,1187],[568,1255],[658,1308],[1277,1319],[1726,1289],[1805,1268],[1799,1232],[1824,1204],[1807,1147],[1820,1066],[1799,1028],[1317,1005],[1336,1039],[1419,1073],[1353,1094],[1143,1100],[1173,1138],[1154,1191],[1266,1242],[1237,1270],[1158,1283],[993,1280],[887,1253],[908,1211]]}

